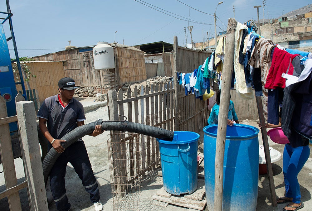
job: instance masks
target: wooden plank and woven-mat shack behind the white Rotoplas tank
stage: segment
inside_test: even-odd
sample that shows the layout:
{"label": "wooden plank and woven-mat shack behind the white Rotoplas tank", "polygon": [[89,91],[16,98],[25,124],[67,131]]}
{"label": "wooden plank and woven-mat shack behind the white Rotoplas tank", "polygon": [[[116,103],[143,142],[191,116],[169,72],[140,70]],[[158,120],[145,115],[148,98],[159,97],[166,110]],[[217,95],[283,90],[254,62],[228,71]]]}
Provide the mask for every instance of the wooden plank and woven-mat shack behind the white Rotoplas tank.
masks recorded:
{"label": "wooden plank and woven-mat shack behind the white Rotoplas tank", "polygon": [[146,78],[144,52],[119,43],[110,44],[114,47],[115,69],[94,70],[92,48],[94,46],[73,47],[55,53],[32,57],[35,61],[65,60],[68,66],[64,69],[65,77],[71,77],[76,85],[106,86],[113,89],[126,82],[143,81]]}

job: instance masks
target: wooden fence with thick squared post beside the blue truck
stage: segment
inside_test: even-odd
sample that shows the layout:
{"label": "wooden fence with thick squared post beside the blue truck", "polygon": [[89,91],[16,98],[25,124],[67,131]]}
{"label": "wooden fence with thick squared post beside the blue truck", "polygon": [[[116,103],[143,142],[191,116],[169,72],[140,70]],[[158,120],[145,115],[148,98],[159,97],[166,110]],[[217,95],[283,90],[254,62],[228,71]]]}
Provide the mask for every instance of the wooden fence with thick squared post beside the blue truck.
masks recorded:
{"label": "wooden fence with thick squared post beside the blue truck", "polygon": [[[43,181],[41,157],[37,135],[36,113],[33,102],[25,100],[21,94],[15,98],[17,116],[7,117],[5,100],[0,96],[0,153],[6,189],[0,193],[0,199],[8,198],[9,209],[22,210],[18,191],[26,188],[31,210],[48,210],[46,191]],[[17,184],[9,123],[18,121],[22,159],[26,180]]]}

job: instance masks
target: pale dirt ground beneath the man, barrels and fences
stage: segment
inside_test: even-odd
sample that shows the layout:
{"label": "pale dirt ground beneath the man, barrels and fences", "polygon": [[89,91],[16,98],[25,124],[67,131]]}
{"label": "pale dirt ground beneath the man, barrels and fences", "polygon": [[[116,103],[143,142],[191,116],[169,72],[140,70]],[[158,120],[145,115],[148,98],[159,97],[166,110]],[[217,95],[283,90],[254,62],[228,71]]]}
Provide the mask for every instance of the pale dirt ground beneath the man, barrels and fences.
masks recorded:
{"label": "pale dirt ground beneath the man, barrels and fences", "polygon": [[[80,99],[80,102],[89,106],[93,102],[93,98]],[[94,102],[96,103],[96,102]],[[108,111],[107,106],[99,107],[93,110],[90,110],[86,114],[86,123],[93,122],[98,118],[108,119]],[[254,127],[258,127],[258,124],[254,121],[244,121],[243,123],[249,124]],[[203,132],[200,133],[200,139],[198,141],[198,151],[203,152]],[[92,164],[92,168],[95,173],[95,177],[99,184],[100,189],[100,200],[104,204],[104,210],[113,210],[113,199],[111,194],[111,184],[110,184],[110,170],[108,163],[108,149],[107,149],[107,140],[110,135],[108,131],[105,131],[103,134],[98,137],[90,137],[85,136],[83,140],[85,141],[85,146],[87,148],[90,162]],[[258,135],[259,144],[262,144],[261,132]],[[269,145],[273,147],[275,150],[278,150],[281,155],[283,152],[284,145],[276,144],[269,139]],[[18,182],[22,182],[25,180],[23,174],[22,167],[22,159],[15,159],[15,166],[17,169],[17,179]],[[281,197],[284,195],[285,187],[284,187],[284,179],[282,173],[282,159],[276,161],[272,164],[273,166],[273,174],[274,174],[274,184],[277,197]],[[2,165],[0,165],[0,172],[2,171]],[[203,171],[203,162],[199,168],[199,171]],[[305,204],[302,211],[311,210],[312,200],[312,154],[310,154],[310,158],[306,162],[303,169],[300,171],[298,175],[298,180],[300,183],[302,201]],[[159,207],[152,204],[152,196],[163,186],[162,177],[158,177],[155,175],[149,180],[148,183],[141,184],[141,188],[138,191],[139,196],[139,205],[138,210],[176,210],[183,211],[188,210],[187,208],[168,205],[166,208]],[[271,206],[271,196],[270,196],[270,188],[267,175],[259,175],[259,191],[258,191],[258,199],[257,199],[257,210],[283,210],[283,207],[286,204],[278,204],[277,207]],[[3,181],[3,173],[0,173],[0,192],[5,189],[4,181]],[[89,195],[86,193],[84,187],[81,184],[80,179],[78,178],[76,172],[73,167],[69,164],[66,170],[66,193],[67,197],[71,203],[71,211],[78,210],[94,210],[92,203],[90,202]],[[26,189],[22,189],[20,191],[22,208],[23,210],[29,210],[28,202],[27,202],[27,192]],[[7,199],[0,200],[0,210],[8,211],[8,203]],[[49,205],[50,211],[55,211],[55,204],[52,202]],[[131,210],[131,209],[128,209]],[[207,210],[207,208],[206,208]],[[248,208],[246,208],[248,210]]]}

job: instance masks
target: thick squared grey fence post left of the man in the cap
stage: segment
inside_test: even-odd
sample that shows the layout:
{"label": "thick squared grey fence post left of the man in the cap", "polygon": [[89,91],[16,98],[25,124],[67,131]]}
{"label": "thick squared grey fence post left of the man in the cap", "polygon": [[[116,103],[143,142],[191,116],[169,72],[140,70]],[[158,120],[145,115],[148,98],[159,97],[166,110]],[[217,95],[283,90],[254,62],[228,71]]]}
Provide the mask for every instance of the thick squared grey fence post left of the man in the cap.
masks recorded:
{"label": "thick squared grey fence post left of the man in the cap", "polygon": [[23,162],[27,176],[30,208],[31,210],[48,210],[33,102],[17,102],[16,112],[21,148],[25,155]]}

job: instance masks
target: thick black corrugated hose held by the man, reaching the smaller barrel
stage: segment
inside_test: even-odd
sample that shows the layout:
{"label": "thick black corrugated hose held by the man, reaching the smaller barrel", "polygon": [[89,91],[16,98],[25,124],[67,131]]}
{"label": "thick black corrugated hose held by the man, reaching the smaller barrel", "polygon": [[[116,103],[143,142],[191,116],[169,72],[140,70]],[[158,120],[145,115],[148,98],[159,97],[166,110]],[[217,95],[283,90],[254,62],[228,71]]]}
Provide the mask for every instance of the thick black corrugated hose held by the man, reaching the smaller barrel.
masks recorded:
{"label": "thick black corrugated hose held by the man, reaching the smaller barrel", "polygon": [[[102,121],[98,120],[96,122],[91,122],[86,125],[75,128],[71,132],[67,133],[65,136],[61,137],[61,140],[66,140],[66,142],[61,142],[61,145],[66,149],[68,146],[73,144],[78,139],[84,137],[87,134],[90,134],[94,131],[95,125],[101,125],[102,130],[111,130],[111,131],[123,131],[123,132],[135,132],[143,135],[159,138],[166,141],[172,141],[173,131],[165,130],[159,127],[153,127],[149,125],[139,124],[129,121]],[[56,152],[52,147],[46,157],[42,162],[43,177],[45,184],[48,180],[50,171],[56,162],[57,158],[61,154]]]}

